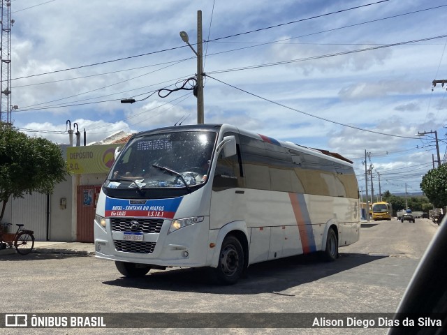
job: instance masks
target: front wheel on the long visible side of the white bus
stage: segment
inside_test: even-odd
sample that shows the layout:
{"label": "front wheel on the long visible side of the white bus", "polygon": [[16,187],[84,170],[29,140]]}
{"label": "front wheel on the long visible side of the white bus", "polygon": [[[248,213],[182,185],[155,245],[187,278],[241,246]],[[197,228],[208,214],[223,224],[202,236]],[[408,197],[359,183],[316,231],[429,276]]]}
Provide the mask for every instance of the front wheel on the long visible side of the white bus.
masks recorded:
{"label": "front wheel on the long visible side of the white bus", "polygon": [[244,272],[244,249],[239,239],[228,235],[223,239],[219,264],[214,269],[214,279],[221,285],[233,285]]}

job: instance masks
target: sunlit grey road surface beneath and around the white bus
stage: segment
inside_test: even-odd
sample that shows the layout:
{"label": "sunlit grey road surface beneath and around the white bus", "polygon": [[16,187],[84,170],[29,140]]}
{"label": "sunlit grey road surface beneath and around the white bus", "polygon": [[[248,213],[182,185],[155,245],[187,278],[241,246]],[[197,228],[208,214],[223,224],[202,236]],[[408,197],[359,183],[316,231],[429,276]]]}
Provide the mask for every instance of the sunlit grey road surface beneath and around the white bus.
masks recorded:
{"label": "sunlit grey road surface beneath and around the white bus", "polygon": [[[151,271],[123,278],[93,256],[0,257],[4,313],[222,312],[393,313],[423,251],[437,231],[430,220],[367,223],[360,241],[336,262],[315,255],[264,262],[233,286],[203,269]],[[0,329],[1,330],[1,329]],[[141,329],[8,329],[8,334],[141,334]],[[145,334],[386,334],[386,329],[144,329]]]}

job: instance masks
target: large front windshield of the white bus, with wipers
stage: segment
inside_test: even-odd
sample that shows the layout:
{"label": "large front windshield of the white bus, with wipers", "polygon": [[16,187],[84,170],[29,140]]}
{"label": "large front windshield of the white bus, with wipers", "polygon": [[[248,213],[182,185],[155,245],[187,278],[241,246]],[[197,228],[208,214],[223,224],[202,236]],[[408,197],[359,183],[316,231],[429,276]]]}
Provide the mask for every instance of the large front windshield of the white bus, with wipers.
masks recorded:
{"label": "large front windshield of the white bus, with wipers", "polygon": [[119,154],[108,188],[188,188],[207,181],[217,133],[187,131],[135,137]]}

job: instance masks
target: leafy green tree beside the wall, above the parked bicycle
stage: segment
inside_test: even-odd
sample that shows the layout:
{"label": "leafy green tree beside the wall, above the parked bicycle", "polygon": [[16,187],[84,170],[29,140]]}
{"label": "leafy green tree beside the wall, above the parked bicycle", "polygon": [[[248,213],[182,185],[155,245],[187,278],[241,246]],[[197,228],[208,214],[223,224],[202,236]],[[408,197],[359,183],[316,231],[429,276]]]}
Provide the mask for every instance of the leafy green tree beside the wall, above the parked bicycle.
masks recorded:
{"label": "leafy green tree beside the wall, above the parked bicycle", "polygon": [[51,193],[57,183],[65,180],[66,173],[57,144],[0,124],[0,221],[11,196]]}

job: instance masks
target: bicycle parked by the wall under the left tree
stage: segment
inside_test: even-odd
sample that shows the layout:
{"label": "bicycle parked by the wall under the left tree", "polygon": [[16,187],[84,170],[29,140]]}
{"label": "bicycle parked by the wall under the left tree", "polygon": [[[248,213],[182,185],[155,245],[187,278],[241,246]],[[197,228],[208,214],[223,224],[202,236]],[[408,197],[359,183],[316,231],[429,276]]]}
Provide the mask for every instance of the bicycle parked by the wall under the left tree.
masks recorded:
{"label": "bicycle parked by the wall under the left tree", "polygon": [[2,223],[0,228],[0,249],[13,248],[17,250],[20,255],[29,254],[34,248],[34,231],[23,229],[24,225],[17,225],[17,232],[7,233],[3,232],[6,227],[13,225],[12,223]]}

